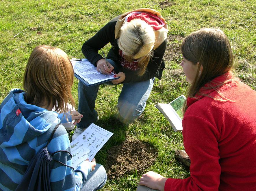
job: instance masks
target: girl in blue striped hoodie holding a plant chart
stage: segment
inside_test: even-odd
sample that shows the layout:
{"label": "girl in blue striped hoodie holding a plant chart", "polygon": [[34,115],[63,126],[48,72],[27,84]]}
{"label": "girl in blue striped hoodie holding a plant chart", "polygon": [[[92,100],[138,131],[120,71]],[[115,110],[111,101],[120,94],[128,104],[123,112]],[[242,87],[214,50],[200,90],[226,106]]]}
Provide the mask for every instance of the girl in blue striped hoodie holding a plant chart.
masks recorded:
{"label": "girl in blue striped hoodie holding a plant chart", "polygon": [[[61,49],[41,45],[32,51],[23,78],[25,91],[12,89],[0,105],[0,190],[16,189],[29,161],[46,146],[60,120],[75,120],[74,125],[81,120],[78,112],[67,113],[67,105],[74,105],[73,76],[72,64]],[[59,113],[66,113],[64,118],[60,119],[52,111],[53,107]],[[58,150],[71,151],[62,125],[48,145],[50,153]],[[53,159],[72,166],[67,152],[57,152]],[[104,167],[95,166],[95,160],[83,161],[75,170],[51,162],[51,190],[92,191],[101,188],[106,179]]]}

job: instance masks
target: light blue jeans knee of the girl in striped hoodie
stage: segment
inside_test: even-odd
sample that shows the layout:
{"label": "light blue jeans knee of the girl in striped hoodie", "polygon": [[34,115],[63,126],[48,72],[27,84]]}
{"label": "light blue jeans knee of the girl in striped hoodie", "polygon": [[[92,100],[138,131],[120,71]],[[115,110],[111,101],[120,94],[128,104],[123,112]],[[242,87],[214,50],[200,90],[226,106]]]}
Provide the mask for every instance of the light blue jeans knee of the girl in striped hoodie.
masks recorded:
{"label": "light blue jeans knee of the girl in striped hoodie", "polygon": [[92,171],[87,177],[84,185],[80,191],[94,191],[101,189],[107,181],[107,173],[104,167],[96,164],[95,170]]}

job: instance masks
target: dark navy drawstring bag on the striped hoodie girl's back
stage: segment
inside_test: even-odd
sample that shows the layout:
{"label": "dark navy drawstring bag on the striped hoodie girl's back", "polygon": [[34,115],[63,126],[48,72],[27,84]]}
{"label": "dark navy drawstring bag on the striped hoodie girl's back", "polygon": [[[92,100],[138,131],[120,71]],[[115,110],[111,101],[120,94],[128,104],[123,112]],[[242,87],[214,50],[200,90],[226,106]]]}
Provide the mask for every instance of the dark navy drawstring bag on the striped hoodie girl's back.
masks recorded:
{"label": "dark navy drawstring bag on the striped hoodie girl's back", "polygon": [[[48,152],[47,146],[50,143],[50,141],[53,137],[53,134],[55,133],[55,131],[59,127],[59,125],[60,125],[60,123],[55,126],[46,146],[42,150],[40,150],[29,162],[27,170],[21,180],[21,183],[16,188],[16,191],[23,191],[23,190],[50,191],[51,190],[51,184],[50,184],[50,170],[51,169],[50,169],[50,167],[51,167],[51,162],[55,161],[52,157],[53,154],[63,151],[63,152],[67,152],[68,154],[70,154],[70,156],[72,158],[71,153],[66,150],[58,150],[51,154]],[[74,170],[73,167],[68,166],[60,161],[56,161],[56,162],[61,163],[62,165],[70,167]]]}

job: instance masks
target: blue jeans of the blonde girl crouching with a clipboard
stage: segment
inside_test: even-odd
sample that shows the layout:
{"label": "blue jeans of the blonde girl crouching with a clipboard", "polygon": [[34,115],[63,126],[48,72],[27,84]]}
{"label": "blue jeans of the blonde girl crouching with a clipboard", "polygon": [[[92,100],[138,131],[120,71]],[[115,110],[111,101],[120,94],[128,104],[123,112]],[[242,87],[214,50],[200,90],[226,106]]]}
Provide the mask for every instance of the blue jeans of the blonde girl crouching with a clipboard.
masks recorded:
{"label": "blue jeans of the blonde girl crouching with a clipboard", "polygon": [[[119,72],[119,68],[113,60],[107,59],[114,71]],[[155,78],[141,82],[124,83],[119,95],[117,108],[124,121],[134,121],[138,118],[146,107],[146,101],[153,88]],[[112,82],[105,83],[113,85]],[[86,87],[81,81],[78,83],[78,112],[84,117],[78,128],[87,128],[97,120],[98,113],[95,111],[95,100],[99,91],[99,85]]]}

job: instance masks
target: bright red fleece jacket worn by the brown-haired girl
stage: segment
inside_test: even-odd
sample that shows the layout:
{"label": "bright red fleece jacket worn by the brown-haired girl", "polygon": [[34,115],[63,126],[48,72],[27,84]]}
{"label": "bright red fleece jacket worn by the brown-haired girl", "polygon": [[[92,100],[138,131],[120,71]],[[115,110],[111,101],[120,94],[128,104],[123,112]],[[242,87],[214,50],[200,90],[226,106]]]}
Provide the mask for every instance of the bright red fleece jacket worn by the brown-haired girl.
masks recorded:
{"label": "bright red fleece jacket worn by the brown-haired girl", "polygon": [[[228,72],[213,81],[231,76]],[[165,191],[256,190],[256,93],[240,81],[220,91],[235,102],[207,96],[188,99],[182,133],[191,160],[190,177],[167,179]],[[201,88],[200,92],[217,96],[212,89]]]}

